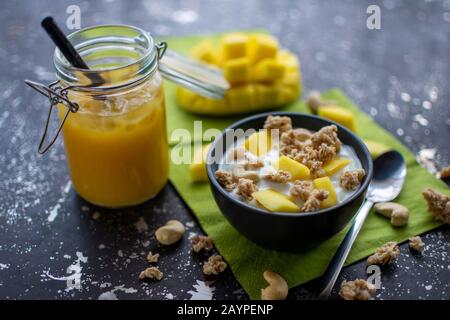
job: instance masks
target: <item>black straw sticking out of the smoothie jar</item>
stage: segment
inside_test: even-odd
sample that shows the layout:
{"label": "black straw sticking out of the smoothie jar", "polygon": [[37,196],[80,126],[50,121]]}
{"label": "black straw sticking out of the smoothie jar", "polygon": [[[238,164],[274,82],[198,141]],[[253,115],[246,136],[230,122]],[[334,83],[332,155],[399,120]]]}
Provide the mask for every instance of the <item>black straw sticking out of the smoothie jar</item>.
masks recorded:
{"label": "black straw sticking out of the smoothie jar", "polygon": [[[69,39],[64,35],[58,25],[55,23],[52,17],[46,17],[41,22],[42,27],[45,29],[47,34],[53,40],[55,45],[64,55],[64,57],[69,61],[69,63],[79,69],[89,70],[86,62],[83,61],[81,56],[78,54],[77,50],[72,46]],[[104,83],[104,80],[100,75],[96,73],[88,73],[87,76],[93,82],[94,85],[99,85]]]}

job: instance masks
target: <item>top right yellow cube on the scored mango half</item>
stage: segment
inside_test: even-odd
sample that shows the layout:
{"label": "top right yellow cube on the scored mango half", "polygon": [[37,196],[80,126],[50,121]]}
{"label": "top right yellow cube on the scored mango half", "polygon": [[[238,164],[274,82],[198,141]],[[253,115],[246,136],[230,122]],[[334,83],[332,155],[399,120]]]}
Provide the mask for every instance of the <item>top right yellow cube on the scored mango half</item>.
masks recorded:
{"label": "top right yellow cube on the scored mango half", "polygon": [[266,58],[275,58],[278,52],[278,41],[268,34],[254,34],[247,46],[247,56],[252,64]]}

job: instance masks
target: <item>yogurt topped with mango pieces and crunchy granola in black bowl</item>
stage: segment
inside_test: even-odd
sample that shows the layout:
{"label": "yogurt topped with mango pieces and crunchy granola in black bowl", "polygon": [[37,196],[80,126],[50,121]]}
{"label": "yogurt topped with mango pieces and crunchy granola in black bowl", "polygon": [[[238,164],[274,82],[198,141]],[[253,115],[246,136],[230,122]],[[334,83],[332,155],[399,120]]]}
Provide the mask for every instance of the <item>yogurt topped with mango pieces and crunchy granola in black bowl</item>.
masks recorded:
{"label": "yogurt topped with mango pieces and crunchy granola in black bowl", "polygon": [[215,177],[232,197],[272,212],[314,212],[355,194],[366,172],[336,125],[318,131],[269,115],[219,160]]}

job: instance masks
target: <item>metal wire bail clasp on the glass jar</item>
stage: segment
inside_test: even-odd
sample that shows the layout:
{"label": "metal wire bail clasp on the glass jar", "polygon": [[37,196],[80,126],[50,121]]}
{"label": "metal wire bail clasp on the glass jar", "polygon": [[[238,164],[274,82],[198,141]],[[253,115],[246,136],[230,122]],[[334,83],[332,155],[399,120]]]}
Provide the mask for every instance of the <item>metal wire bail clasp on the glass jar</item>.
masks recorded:
{"label": "metal wire bail clasp on the glass jar", "polygon": [[[155,44],[156,50],[157,50],[157,58],[158,61],[164,56],[164,53],[167,50],[167,43],[166,42],[159,42],[157,44]],[[95,88],[96,86],[67,86],[67,87],[63,87],[60,84],[59,80],[56,80],[48,85],[43,84],[43,83],[39,83],[39,82],[35,82],[35,81],[31,81],[31,80],[24,80],[24,82],[30,86],[31,88],[33,88],[34,90],[36,90],[37,92],[39,92],[40,94],[46,96],[49,99],[50,102],[50,106],[48,108],[48,113],[47,113],[47,119],[45,121],[45,126],[44,126],[44,132],[42,134],[41,140],[39,142],[39,147],[38,147],[38,152],[39,154],[44,154],[46,153],[50,147],[56,142],[56,139],[59,136],[59,133],[61,132],[64,123],[66,122],[67,117],[69,116],[69,114],[72,113],[76,113],[80,106],[76,103],[76,102],[72,102],[70,101],[70,99],[68,98],[68,92],[71,89],[87,89],[87,88]],[[58,126],[58,129],[56,130],[55,134],[53,135],[53,137],[49,140],[49,142],[46,144],[45,142],[47,141],[47,136],[49,133],[49,125],[50,125],[50,119],[51,119],[51,114],[53,111],[53,108],[55,106],[57,106],[58,104],[63,104],[67,110],[64,113],[64,117],[62,118],[62,120],[60,120],[60,124]]]}

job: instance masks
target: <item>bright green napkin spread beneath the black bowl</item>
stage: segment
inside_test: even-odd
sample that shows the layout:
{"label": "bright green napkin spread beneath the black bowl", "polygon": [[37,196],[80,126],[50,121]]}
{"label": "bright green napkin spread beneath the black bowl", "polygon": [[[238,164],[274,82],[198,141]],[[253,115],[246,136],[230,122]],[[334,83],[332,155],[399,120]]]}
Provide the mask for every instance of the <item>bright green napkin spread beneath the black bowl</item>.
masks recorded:
{"label": "bright green napkin spread beneath the black bowl", "polygon": [[[202,37],[170,39],[169,46],[174,50],[187,52],[200,39]],[[177,128],[192,132],[195,120],[202,121],[203,130],[207,128],[222,130],[238,118],[242,118],[214,118],[188,114],[176,106],[174,89],[174,85],[166,84],[169,134]],[[421,191],[425,187],[432,187],[448,192],[447,186],[420,167],[413,154],[404,145],[359,110],[340,90],[327,91],[323,96],[335,100],[355,114],[357,130],[362,138],[382,142],[399,151],[405,157],[408,167],[404,188],[396,199],[396,202],[407,206],[410,210],[408,226],[394,228],[389,219],[374,212],[370,213],[350,252],[347,264],[372,254],[377,247],[387,241],[402,242],[410,236],[438,227],[440,223],[433,220],[427,213]],[[304,103],[301,102],[286,106],[283,110],[308,112]],[[201,139],[201,136],[198,135],[196,138]],[[238,233],[222,216],[214,202],[208,183],[194,184],[187,176],[188,165],[171,163],[172,183],[192,209],[204,231],[214,239],[217,250],[226,259],[235,277],[251,299],[259,299],[261,288],[267,286],[262,276],[267,269],[281,274],[287,280],[289,287],[295,287],[322,275],[345,235],[346,230],[343,230],[320,246],[298,254],[259,247]]]}

